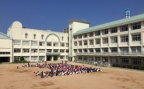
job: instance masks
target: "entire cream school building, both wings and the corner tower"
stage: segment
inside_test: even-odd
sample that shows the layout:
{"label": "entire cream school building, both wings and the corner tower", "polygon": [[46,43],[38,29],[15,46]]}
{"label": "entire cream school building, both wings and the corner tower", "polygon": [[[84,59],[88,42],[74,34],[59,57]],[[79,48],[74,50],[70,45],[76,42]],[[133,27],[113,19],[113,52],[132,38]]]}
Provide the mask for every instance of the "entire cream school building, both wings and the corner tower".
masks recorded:
{"label": "entire cream school building, both wings and the corner tower", "polygon": [[144,14],[94,27],[89,24],[70,20],[66,32],[54,32],[26,28],[15,21],[7,31],[7,37],[12,41],[9,44],[10,62],[23,56],[29,61],[68,60],[107,66],[144,66]]}

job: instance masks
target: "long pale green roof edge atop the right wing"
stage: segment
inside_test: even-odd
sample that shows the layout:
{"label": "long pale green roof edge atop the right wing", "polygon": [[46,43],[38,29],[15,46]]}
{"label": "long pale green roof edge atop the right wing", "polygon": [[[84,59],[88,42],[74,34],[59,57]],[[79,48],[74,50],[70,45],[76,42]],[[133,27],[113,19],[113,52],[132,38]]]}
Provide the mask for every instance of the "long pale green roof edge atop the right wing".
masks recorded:
{"label": "long pale green roof edge atop the right wing", "polygon": [[117,26],[122,26],[122,25],[139,22],[139,21],[143,21],[143,20],[144,20],[144,14],[140,14],[140,15],[136,15],[136,16],[133,16],[130,18],[124,18],[121,20],[117,20],[117,21],[97,25],[94,27],[82,29],[82,30],[75,32],[74,35],[92,32],[92,31],[96,31],[96,30],[108,29],[108,28],[117,27]]}

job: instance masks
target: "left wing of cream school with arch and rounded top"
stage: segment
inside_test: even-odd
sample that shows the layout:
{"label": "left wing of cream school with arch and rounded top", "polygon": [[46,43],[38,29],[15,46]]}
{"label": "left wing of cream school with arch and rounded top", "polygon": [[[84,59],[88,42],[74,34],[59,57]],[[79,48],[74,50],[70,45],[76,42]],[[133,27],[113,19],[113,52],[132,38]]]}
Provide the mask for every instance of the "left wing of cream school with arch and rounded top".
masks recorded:
{"label": "left wing of cream school with arch and rounded top", "polygon": [[15,21],[7,35],[13,40],[13,60],[58,61],[68,56],[68,33],[30,29]]}

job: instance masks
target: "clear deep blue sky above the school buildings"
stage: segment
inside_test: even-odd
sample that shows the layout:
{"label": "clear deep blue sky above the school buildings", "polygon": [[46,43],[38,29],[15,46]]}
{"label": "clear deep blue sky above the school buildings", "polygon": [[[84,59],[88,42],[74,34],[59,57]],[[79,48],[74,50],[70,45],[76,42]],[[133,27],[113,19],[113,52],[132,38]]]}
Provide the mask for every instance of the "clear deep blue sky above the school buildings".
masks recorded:
{"label": "clear deep blue sky above the school buildings", "polygon": [[90,26],[144,13],[144,0],[0,0],[0,32],[6,34],[12,22],[24,27],[63,31],[68,20],[90,22]]}

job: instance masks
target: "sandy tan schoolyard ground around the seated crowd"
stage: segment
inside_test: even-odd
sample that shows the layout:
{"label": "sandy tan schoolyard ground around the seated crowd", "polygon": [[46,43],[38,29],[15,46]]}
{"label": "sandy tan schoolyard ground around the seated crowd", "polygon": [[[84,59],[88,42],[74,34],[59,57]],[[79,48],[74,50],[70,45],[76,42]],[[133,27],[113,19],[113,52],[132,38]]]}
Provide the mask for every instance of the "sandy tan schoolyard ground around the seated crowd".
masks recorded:
{"label": "sandy tan schoolyard ground around the seated crowd", "polygon": [[33,72],[47,69],[19,66],[16,69],[16,64],[0,64],[0,89],[144,89],[144,71],[102,68],[103,72],[98,73],[41,79],[33,77]]}

